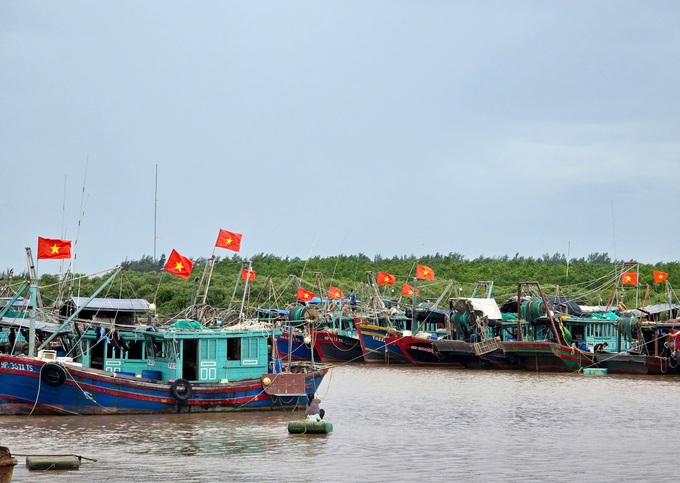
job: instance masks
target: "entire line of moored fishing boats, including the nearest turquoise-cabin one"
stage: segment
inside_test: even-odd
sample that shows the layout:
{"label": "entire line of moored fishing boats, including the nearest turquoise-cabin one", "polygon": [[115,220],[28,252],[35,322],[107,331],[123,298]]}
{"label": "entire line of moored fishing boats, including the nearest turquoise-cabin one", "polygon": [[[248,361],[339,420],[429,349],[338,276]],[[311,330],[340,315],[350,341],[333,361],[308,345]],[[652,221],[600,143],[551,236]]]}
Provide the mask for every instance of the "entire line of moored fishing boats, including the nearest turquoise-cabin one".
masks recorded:
{"label": "entire line of moored fishing boats, including the nearest turquoise-cabin one", "polygon": [[680,372],[678,305],[582,307],[523,282],[499,306],[480,282],[442,309],[441,298],[403,305],[373,285],[364,301],[317,297],[247,317],[194,304],[159,320],[145,300],[97,298],[117,273],[87,299],[40,309],[27,282],[0,303],[0,414],[294,409],[332,364],[351,362]]}

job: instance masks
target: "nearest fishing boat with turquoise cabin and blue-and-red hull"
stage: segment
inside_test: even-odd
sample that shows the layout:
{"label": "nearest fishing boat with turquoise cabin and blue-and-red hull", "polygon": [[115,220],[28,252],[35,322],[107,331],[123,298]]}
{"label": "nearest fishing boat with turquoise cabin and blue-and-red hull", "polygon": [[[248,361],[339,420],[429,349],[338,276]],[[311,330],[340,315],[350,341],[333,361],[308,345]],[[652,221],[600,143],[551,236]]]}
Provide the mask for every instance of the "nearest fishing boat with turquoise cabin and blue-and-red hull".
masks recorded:
{"label": "nearest fishing boat with turquoise cabin and blue-and-red hull", "polygon": [[[258,321],[226,328],[194,320],[168,327],[87,321],[79,328],[77,315],[119,271],[53,330],[37,355],[32,347],[31,355],[0,354],[0,414],[292,409],[304,405],[327,372],[311,363],[270,369],[268,340],[278,331]],[[35,332],[34,318],[28,323]],[[64,357],[51,350],[57,338],[70,347]]]}

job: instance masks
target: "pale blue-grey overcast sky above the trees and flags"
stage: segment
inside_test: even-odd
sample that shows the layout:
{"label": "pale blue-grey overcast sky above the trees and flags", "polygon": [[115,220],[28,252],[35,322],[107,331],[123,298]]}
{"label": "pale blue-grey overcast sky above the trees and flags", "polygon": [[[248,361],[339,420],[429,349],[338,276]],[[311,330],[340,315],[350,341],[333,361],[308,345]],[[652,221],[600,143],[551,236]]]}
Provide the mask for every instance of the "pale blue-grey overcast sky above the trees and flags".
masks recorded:
{"label": "pale blue-grey overcast sky above the trees and flags", "polygon": [[[0,2],[0,270],[680,259],[675,1]],[[613,235],[612,202],[614,207]],[[232,252],[218,249],[219,255]],[[41,273],[56,273],[41,261]]]}

